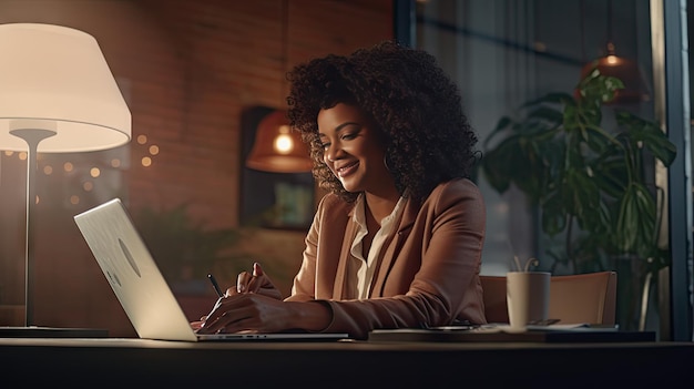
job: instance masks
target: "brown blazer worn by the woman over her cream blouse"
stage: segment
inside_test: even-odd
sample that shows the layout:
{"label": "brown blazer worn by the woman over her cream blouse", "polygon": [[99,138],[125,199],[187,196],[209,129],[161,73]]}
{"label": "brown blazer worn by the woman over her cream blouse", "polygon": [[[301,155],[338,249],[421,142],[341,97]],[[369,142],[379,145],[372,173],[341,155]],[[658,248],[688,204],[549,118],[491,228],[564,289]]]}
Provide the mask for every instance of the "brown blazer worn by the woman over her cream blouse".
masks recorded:
{"label": "brown blazer worn by the woman over her cream blouse", "polygon": [[364,300],[343,298],[358,231],[353,208],[333,194],[320,201],[286,300],[327,305],[333,321],[324,331],[358,339],[378,328],[445,326],[455,319],[486,323],[479,279],[486,208],[471,181],[440,184],[421,205],[406,202],[381,249],[371,295]]}

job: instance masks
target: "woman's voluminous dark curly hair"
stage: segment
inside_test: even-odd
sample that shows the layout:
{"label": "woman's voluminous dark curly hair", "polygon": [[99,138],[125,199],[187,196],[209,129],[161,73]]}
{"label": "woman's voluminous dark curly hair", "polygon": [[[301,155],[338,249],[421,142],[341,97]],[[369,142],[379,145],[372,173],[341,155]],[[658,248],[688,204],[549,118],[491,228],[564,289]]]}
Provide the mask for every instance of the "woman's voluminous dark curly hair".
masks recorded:
{"label": "woman's voluminous dark curly hair", "polygon": [[328,54],[295,66],[287,103],[292,127],[310,146],[320,187],[347,202],[347,192],[323,162],[318,112],[338,103],[370,115],[382,132],[386,161],[404,196],[422,201],[438,184],[469,177],[478,139],[462,112],[460,91],[436,59],[394,41],[350,55]]}

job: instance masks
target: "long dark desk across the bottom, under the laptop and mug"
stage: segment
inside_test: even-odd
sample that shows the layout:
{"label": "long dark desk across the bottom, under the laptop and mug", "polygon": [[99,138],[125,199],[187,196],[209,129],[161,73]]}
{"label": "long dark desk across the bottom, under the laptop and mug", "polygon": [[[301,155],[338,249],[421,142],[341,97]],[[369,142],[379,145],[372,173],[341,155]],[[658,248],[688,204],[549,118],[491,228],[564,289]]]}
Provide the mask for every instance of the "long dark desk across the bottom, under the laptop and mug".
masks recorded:
{"label": "long dark desk across the bottom, under the laptop and mug", "polygon": [[[693,342],[0,339],[1,382],[172,388],[691,388]],[[0,385],[4,387],[3,385]]]}

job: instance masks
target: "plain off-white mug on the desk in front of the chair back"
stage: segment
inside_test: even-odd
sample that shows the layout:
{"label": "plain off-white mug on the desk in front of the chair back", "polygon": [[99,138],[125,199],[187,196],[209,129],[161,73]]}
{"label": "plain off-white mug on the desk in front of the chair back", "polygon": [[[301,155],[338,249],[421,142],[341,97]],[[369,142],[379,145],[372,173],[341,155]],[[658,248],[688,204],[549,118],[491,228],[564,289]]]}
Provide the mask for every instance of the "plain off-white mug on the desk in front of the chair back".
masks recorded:
{"label": "plain off-white mug on the desk in front of the chair back", "polygon": [[522,329],[529,323],[548,319],[550,277],[547,272],[509,272],[506,296],[511,328]]}

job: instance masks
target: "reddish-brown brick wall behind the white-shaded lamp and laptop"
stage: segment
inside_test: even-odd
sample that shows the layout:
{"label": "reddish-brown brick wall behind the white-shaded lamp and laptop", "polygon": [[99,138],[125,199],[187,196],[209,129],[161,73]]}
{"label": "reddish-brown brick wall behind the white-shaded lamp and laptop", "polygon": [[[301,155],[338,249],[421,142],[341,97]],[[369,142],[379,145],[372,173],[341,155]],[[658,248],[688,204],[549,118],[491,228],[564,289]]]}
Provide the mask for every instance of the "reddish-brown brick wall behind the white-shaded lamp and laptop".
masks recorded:
{"label": "reddish-brown brick wall behind the white-shaded lamp and laptop", "polygon": [[[210,228],[237,227],[243,110],[280,106],[287,91],[284,72],[293,64],[348,53],[392,34],[389,0],[289,0],[287,6],[284,12],[276,0],[0,0],[0,23],[47,22],[93,34],[133,115],[127,146],[51,155],[40,163],[123,161],[120,168],[103,168],[89,193],[80,192],[85,178],[79,172],[39,177],[37,324],[132,336],[71,216],[119,195],[133,212],[188,204],[191,217]],[[139,135],[146,135],[146,143],[137,143]],[[159,146],[157,154],[150,153],[151,145]],[[144,156],[152,158],[151,166],[140,163]],[[0,156],[0,305],[23,304],[23,280],[18,279],[23,249],[17,242],[23,237],[18,209],[24,199],[17,191],[23,185],[22,168],[17,154]],[[68,198],[75,194],[79,202],[72,204]],[[259,231],[241,246],[268,262],[288,293],[303,238],[300,232]],[[232,283],[232,272],[221,281]],[[194,317],[206,307],[190,309]]]}

